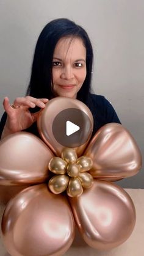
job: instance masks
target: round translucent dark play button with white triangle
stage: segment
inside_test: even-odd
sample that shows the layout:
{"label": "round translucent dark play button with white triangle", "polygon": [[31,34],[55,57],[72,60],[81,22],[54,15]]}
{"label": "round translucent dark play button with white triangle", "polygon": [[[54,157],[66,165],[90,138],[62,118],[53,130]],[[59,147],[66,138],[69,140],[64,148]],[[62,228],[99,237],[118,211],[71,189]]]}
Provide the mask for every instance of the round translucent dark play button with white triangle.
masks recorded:
{"label": "round translucent dark play button with white triangle", "polygon": [[68,108],[56,115],[52,122],[52,133],[59,144],[79,147],[92,132],[92,122],[81,109]]}

